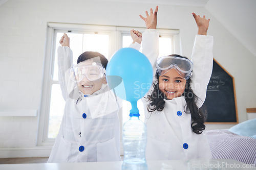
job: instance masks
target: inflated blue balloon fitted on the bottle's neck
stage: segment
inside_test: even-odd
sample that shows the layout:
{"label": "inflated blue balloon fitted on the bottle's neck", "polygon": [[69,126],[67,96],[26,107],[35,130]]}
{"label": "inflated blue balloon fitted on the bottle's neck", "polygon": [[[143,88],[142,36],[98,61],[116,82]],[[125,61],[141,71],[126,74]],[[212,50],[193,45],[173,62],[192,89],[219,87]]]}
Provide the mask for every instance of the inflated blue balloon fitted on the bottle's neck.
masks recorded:
{"label": "inflated blue balloon fitted on the bottle's neck", "polygon": [[130,115],[139,114],[137,101],[150,89],[153,68],[145,55],[134,48],[121,48],[106,66],[106,79],[116,95],[132,104]]}

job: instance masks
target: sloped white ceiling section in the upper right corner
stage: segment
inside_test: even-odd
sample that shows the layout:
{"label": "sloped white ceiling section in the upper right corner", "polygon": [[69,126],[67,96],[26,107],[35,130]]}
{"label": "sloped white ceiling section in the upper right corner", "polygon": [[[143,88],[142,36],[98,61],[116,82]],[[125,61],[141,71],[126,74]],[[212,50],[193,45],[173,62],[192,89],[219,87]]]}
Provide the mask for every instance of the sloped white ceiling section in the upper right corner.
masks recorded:
{"label": "sloped white ceiling section in the upper right corner", "polygon": [[209,0],[204,8],[256,57],[255,0]]}

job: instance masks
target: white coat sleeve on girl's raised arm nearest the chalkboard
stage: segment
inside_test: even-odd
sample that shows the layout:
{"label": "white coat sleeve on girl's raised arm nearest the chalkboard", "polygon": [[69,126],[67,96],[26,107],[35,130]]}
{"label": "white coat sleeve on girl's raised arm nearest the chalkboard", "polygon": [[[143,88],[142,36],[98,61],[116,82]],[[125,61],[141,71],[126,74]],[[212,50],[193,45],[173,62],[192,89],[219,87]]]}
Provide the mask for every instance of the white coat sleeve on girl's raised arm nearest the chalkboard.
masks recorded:
{"label": "white coat sleeve on girl's raised arm nearest the chalkboard", "polygon": [[214,38],[212,36],[196,35],[192,52],[193,76],[191,77],[191,88],[200,98],[197,103],[199,108],[202,107],[205,101],[206,90],[211,77],[213,44]]}

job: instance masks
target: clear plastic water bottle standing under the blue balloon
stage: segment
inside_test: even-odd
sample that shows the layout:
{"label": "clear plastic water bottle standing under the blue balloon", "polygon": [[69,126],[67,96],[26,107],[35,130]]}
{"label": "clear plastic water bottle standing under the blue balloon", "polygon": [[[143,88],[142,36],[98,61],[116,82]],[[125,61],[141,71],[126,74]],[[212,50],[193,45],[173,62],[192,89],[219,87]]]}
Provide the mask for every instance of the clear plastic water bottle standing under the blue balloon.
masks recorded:
{"label": "clear plastic water bottle standing under the blue balloon", "polygon": [[122,170],[146,170],[146,126],[139,119],[139,113],[131,114],[122,130],[123,164]]}

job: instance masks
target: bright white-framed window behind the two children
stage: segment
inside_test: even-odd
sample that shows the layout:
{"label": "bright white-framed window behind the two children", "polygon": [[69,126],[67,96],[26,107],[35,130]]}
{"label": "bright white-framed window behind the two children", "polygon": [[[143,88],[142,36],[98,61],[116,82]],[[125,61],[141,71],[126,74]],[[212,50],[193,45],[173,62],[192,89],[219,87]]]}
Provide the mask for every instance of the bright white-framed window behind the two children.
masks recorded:
{"label": "bright white-framed window behind the two children", "polygon": [[[110,60],[112,54],[121,47],[128,47],[132,42],[130,30],[144,31],[144,28],[76,25],[67,23],[48,23],[48,36],[46,45],[44,84],[40,108],[40,121],[38,129],[38,145],[52,145],[58,134],[65,101],[62,98],[58,83],[57,48],[63,33],[70,37],[70,48],[73,51],[73,64],[80,54],[85,51],[97,51]],[[179,53],[177,48],[177,30],[161,30],[160,56]],[[175,49],[176,47],[176,49]],[[144,120],[142,102],[138,102],[140,119]],[[129,119],[131,104],[123,101],[120,112],[120,125]]]}

